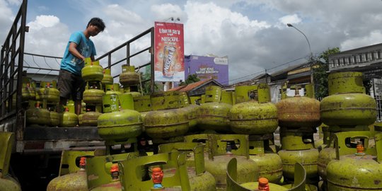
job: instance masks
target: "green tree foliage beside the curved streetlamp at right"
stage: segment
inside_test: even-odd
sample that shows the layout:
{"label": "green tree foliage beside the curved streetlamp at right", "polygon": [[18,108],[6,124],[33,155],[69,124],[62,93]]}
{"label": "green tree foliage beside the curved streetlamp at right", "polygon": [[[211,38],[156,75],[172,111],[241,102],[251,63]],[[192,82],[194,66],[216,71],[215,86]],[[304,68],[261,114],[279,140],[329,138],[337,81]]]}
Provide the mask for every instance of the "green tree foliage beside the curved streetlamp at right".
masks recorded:
{"label": "green tree foliage beside the curved streetlamp at right", "polygon": [[313,81],[316,89],[316,98],[324,98],[328,96],[328,73],[329,55],[337,54],[340,48],[335,47],[322,52],[313,66]]}

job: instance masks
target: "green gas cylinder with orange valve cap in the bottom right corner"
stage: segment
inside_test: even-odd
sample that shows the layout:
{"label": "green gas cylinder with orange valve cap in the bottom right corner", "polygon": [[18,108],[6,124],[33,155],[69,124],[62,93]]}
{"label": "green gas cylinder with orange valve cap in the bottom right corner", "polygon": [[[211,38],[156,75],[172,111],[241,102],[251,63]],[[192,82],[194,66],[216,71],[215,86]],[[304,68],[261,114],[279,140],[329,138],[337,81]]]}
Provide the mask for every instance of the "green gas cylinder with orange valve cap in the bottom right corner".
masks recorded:
{"label": "green gas cylinder with orange valve cap in the bottom right corner", "polygon": [[[335,137],[337,156],[328,164],[328,190],[382,190],[382,134],[375,135],[374,147],[365,141],[371,132],[338,132]],[[340,141],[344,138],[350,141]]]}

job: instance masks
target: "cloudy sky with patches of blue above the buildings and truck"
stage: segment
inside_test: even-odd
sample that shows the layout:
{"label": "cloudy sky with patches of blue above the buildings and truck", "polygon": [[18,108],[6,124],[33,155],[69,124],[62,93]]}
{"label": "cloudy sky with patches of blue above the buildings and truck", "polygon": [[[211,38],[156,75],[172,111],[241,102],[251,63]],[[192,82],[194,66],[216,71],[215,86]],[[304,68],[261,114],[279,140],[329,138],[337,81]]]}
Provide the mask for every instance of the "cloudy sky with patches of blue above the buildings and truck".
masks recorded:
{"label": "cloudy sky with patches of blue above the buildings and truck", "polygon": [[[21,0],[0,0],[1,45],[20,5]],[[106,25],[91,37],[98,56],[155,21],[177,22],[184,25],[185,55],[228,56],[229,83],[237,83],[306,62],[310,51],[318,57],[328,48],[345,51],[381,43],[381,10],[382,0],[30,0],[25,52],[62,57],[70,34],[84,30],[93,17]],[[149,42],[139,40],[132,51]],[[145,59],[132,64],[145,64]],[[27,64],[44,63],[32,59]],[[45,64],[59,67],[58,62]]]}

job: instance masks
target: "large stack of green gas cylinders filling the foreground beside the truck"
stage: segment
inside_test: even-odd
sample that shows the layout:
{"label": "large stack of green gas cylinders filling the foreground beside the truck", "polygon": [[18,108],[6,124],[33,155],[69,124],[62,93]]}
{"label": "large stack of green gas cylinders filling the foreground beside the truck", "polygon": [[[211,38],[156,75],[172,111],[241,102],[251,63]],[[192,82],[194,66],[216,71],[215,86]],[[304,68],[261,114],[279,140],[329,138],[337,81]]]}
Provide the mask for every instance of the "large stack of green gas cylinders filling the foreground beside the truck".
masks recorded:
{"label": "large stack of green gas cylinders filling the foreground beside the truck", "polygon": [[[48,190],[382,189],[382,134],[370,128],[376,103],[359,72],[330,74],[321,102],[291,86],[294,96],[277,104],[267,84],[141,96],[132,93],[139,74],[125,65],[120,82],[123,91],[109,82],[100,103],[86,101],[102,105],[96,126],[105,149],[64,151],[68,168]],[[319,126],[325,137],[316,148]]]}

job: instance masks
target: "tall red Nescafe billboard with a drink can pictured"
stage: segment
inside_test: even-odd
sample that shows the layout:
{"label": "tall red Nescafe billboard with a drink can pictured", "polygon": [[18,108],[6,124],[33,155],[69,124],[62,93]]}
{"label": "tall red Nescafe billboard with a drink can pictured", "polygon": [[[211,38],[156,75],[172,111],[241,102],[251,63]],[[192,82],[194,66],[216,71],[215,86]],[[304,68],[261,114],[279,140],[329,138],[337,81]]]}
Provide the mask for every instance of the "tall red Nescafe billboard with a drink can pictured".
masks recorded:
{"label": "tall red Nescafe billboard with a drink can pictured", "polygon": [[155,22],[154,36],[154,81],[184,81],[183,24]]}

